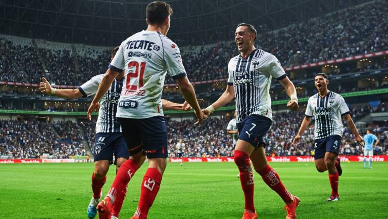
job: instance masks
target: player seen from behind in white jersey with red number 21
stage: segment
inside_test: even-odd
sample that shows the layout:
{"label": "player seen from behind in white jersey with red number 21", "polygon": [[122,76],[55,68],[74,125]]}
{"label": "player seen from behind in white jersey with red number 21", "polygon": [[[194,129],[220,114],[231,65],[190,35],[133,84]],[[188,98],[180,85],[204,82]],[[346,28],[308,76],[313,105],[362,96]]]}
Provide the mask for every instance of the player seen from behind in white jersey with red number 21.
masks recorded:
{"label": "player seen from behind in white jersey with red number 21", "polygon": [[147,30],[135,33],[121,43],[88,109],[87,115],[90,117],[114,78],[124,69],[116,117],[121,124],[130,158],[121,165],[108,195],[98,204],[100,218],[109,218],[111,203],[125,191],[146,156],[149,168],[144,174],[139,203],[132,218],[147,218],[158,194],[168,157],[167,131],[161,107],[167,71],[195,110],[197,123],[202,122],[203,113],[193,86],[187,79],[179,48],[166,36],[171,14],[172,9],[167,3],[152,2],[147,6]]}

